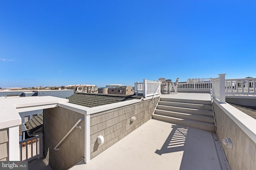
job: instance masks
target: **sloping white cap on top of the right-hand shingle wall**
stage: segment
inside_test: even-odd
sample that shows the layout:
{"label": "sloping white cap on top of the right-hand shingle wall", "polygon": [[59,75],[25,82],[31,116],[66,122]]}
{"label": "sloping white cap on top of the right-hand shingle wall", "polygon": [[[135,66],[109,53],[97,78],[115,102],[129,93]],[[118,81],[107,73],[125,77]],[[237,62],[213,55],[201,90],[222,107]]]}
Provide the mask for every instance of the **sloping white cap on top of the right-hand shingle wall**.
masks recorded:
{"label": "sloping white cap on top of the right-hand shingle wall", "polygon": [[214,99],[217,104],[227,115],[256,143],[256,119],[250,117],[246,113],[236,109],[230,104],[220,104],[218,100]]}

